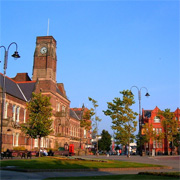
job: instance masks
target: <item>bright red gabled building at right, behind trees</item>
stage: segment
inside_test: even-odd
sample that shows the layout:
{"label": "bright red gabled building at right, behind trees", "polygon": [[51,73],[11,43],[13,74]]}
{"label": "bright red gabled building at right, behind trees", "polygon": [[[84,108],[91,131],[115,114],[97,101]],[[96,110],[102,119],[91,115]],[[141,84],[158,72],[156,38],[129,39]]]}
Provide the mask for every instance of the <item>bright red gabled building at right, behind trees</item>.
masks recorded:
{"label": "bright red gabled building at right, behind trees", "polygon": [[[159,108],[156,106],[153,110],[144,110],[142,109],[142,125],[145,123],[148,123],[148,125],[152,125],[153,131],[156,132],[157,136],[160,133],[165,133],[165,130],[162,126],[163,119],[160,119],[158,117]],[[178,121],[178,128],[180,129],[180,109],[177,108],[174,112],[175,119]],[[144,135],[144,129],[142,128],[141,134]],[[166,136],[162,139],[162,141],[150,139],[150,142],[147,143],[143,150],[146,152],[149,151],[150,146],[150,152],[152,152],[152,149],[155,150],[156,154],[166,154],[167,152],[171,152],[170,142],[167,144]],[[177,153],[177,148],[174,151]]]}

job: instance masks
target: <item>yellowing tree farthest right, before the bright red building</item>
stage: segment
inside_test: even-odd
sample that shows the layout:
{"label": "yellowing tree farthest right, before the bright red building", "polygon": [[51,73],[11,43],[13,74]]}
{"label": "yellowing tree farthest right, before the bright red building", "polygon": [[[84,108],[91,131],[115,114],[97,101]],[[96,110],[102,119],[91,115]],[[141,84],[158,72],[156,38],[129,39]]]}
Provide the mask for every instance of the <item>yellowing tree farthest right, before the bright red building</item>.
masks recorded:
{"label": "yellowing tree farthest right, before the bright red building", "polygon": [[158,117],[162,119],[161,123],[165,131],[165,136],[167,140],[167,153],[169,154],[169,141],[171,142],[171,154],[174,148],[174,140],[178,134],[178,122],[175,119],[175,115],[170,109],[165,109],[164,111],[158,112]]}

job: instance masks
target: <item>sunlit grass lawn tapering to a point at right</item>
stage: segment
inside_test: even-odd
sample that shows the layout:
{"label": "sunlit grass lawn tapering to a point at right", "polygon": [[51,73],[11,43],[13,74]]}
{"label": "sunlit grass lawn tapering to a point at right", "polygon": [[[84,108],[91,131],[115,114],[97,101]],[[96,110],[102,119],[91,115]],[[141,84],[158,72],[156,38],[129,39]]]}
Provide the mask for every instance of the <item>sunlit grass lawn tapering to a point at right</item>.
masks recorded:
{"label": "sunlit grass lawn tapering to a point at right", "polygon": [[138,168],[138,167],[162,167],[160,165],[142,164],[108,160],[75,160],[61,157],[40,157],[36,159],[3,160],[1,167],[17,166],[19,169],[91,169],[91,168]]}

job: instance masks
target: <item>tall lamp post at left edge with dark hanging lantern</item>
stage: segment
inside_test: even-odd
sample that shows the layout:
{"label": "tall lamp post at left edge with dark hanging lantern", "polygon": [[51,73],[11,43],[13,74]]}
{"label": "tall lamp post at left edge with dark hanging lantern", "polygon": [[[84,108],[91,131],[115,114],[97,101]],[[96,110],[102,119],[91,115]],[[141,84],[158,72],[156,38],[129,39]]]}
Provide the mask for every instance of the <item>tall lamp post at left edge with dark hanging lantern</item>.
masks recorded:
{"label": "tall lamp post at left edge with dark hanging lantern", "polygon": [[12,57],[14,58],[20,58],[17,49],[18,46],[15,42],[12,42],[8,48],[6,49],[5,46],[0,46],[0,48],[4,48],[4,73],[3,73],[3,82],[2,82],[2,108],[1,108],[1,133],[0,133],[0,156],[1,156],[1,152],[2,152],[2,128],[3,128],[3,118],[4,118],[4,105],[5,105],[5,91],[6,91],[6,87],[5,87],[5,78],[6,78],[6,69],[7,69],[7,62],[8,62],[8,52],[9,52],[9,48],[11,45],[15,44],[16,45],[16,51],[14,52],[14,54],[12,55]]}

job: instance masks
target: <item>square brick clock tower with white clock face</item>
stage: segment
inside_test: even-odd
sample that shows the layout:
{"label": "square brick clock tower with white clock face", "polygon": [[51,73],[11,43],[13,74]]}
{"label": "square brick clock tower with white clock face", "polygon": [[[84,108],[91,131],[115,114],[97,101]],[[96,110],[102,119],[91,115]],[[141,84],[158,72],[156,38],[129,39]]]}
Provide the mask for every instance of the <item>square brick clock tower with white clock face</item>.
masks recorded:
{"label": "square brick clock tower with white clock face", "polygon": [[56,82],[56,62],[56,40],[52,36],[37,37],[32,80]]}

